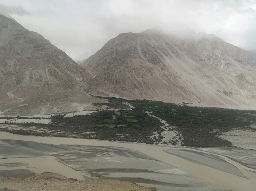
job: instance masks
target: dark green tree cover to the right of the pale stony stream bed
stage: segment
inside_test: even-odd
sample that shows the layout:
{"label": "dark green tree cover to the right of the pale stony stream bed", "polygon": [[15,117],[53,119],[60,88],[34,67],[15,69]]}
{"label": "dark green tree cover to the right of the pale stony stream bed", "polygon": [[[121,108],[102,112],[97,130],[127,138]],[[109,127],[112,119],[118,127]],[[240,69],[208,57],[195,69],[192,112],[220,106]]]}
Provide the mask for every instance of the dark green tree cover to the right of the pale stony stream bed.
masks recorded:
{"label": "dark green tree cover to the right of the pale stony stream bed", "polygon": [[129,100],[138,110],[150,111],[177,128],[184,137],[184,146],[231,146],[228,140],[219,138],[213,130],[227,132],[233,128],[249,128],[256,122],[256,111],[225,108],[190,107],[161,101]]}

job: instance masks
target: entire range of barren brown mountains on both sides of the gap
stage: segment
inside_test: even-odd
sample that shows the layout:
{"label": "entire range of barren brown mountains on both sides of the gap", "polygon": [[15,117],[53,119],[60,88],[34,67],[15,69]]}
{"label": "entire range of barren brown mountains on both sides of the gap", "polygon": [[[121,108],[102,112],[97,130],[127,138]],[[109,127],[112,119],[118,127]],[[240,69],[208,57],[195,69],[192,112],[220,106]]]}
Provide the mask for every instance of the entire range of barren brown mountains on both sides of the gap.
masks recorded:
{"label": "entire range of barren brown mountains on both sides of the gap", "polygon": [[[79,63],[79,64],[78,64]],[[190,31],[122,33],[74,62],[40,34],[0,15],[0,114],[91,110],[117,96],[217,107],[256,105],[256,56]]]}

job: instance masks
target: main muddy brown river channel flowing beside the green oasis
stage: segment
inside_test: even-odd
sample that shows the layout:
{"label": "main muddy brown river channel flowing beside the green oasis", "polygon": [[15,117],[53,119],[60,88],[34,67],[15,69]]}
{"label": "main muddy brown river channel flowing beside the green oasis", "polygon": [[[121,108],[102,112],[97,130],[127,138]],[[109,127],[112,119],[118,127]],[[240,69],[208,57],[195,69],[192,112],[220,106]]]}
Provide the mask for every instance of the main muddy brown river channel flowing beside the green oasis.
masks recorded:
{"label": "main muddy brown river channel flowing beside the green oasis", "polygon": [[[119,142],[109,142],[109,141],[99,141],[99,140],[86,140],[86,139],[73,139],[73,138],[50,138],[50,137],[33,137],[33,136],[22,136],[6,132],[0,132],[0,139],[14,139],[14,140],[24,140],[24,141],[34,141],[40,143],[48,144],[70,144],[70,145],[94,145],[94,146],[104,146],[104,147],[121,147],[140,151],[141,153],[148,155],[151,158],[155,158],[158,161],[167,163],[173,167],[176,167],[182,171],[194,175],[202,180],[220,185],[222,187],[239,190],[239,191],[254,191],[256,187],[256,174],[250,173],[244,169],[242,164],[232,161],[227,157],[223,157],[219,154],[214,154],[222,157],[224,160],[235,166],[239,171],[244,174],[248,179],[239,177],[228,172],[223,172],[218,169],[208,167],[205,165],[196,164],[188,160],[179,158],[172,154],[166,153],[166,147],[155,147],[151,145],[135,144],[135,143],[119,143]],[[179,149],[179,148],[168,148],[168,149]],[[195,149],[187,149],[193,150]],[[198,151],[198,150],[197,150]],[[206,151],[199,151],[203,153],[208,153]],[[212,153],[213,154],[213,153]],[[182,189],[181,189],[182,190]],[[190,189],[195,190],[195,189]],[[205,190],[205,189],[203,189]],[[222,188],[222,190],[225,190]]]}

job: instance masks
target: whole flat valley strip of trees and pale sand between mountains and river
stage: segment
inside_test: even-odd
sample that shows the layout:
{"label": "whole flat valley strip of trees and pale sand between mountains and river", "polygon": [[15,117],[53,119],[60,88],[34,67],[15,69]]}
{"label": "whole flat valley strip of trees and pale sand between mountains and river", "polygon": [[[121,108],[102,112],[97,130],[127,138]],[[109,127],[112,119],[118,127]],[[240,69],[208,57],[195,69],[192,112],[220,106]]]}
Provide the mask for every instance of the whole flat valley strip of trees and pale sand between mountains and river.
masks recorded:
{"label": "whole flat valley strip of trees and pale sand between mountains and river", "polygon": [[93,103],[91,111],[15,118],[0,115],[0,130],[164,146],[256,149],[256,111],[115,97],[94,99],[105,103]]}

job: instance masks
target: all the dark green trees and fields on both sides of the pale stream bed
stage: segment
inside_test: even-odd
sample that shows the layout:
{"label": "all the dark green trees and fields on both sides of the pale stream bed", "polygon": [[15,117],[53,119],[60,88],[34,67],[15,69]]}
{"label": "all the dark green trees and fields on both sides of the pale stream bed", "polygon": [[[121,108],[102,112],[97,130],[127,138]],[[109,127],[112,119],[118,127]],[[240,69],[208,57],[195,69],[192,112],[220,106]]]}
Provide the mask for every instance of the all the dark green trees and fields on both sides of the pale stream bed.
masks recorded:
{"label": "all the dark green trees and fields on both sides of the pale stream bed", "polygon": [[[98,97],[104,98],[104,97]],[[256,123],[256,111],[232,110],[224,108],[191,107],[189,104],[174,104],[149,100],[124,100],[120,98],[104,98],[109,103],[95,103],[118,108],[118,111],[100,111],[90,115],[78,115],[63,118],[64,115],[54,115],[53,124],[38,124],[38,127],[62,133],[42,133],[36,131],[11,131],[18,134],[53,135],[79,138],[131,141],[142,143],[158,143],[163,135],[150,138],[155,132],[164,131],[158,119],[150,117],[145,111],[152,112],[169,125],[175,126],[184,137],[185,146],[190,147],[220,147],[231,146],[232,143],[218,137],[218,133],[227,132],[233,128],[248,129],[251,123]],[[129,102],[135,109],[127,110]],[[35,124],[24,124],[35,125]],[[5,129],[1,129],[7,131]],[[64,132],[64,133],[63,133]],[[176,145],[175,141],[167,140]]]}

